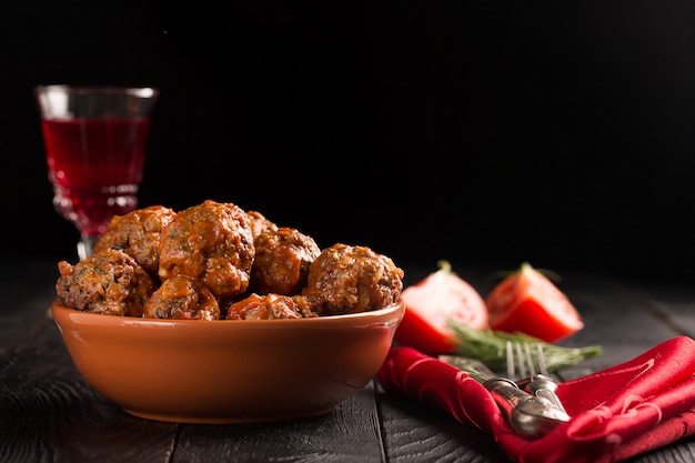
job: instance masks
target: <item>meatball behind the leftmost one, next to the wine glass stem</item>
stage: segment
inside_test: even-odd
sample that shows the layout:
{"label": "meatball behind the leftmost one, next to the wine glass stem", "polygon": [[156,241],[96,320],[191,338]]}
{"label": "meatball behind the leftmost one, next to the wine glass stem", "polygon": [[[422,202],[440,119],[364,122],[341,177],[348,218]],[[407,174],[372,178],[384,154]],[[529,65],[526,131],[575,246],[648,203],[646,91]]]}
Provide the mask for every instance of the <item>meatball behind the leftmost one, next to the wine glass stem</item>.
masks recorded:
{"label": "meatball behind the leftmost one, next to the wine glass stem", "polygon": [[152,278],[159,271],[159,245],[162,230],[177,213],[163,205],[137,209],[117,215],[94,244],[94,252],[119,248],[131,255]]}

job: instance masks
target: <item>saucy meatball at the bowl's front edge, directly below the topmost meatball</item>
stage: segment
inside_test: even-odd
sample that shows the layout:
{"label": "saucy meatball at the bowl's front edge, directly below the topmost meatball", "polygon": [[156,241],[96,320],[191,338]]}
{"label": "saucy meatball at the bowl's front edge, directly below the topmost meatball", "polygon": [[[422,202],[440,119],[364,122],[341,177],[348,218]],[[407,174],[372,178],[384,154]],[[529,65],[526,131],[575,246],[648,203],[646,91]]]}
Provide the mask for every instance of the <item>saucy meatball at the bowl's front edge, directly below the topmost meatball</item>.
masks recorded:
{"label": "saucy meatball at the bowl's front edge, directly below the topmost meatball", "polygon": [[218,300],[200,280],[172,276],[164,280],[144,304],[145,319],[219,320]]}

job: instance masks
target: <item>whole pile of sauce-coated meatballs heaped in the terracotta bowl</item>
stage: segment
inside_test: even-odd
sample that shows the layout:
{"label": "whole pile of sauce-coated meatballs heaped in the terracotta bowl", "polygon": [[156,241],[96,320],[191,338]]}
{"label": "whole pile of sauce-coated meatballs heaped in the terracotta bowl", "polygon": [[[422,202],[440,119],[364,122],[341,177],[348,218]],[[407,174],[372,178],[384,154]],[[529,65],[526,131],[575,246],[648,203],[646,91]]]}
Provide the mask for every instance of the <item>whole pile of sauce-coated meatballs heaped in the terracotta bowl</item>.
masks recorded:
{"label": "whole pile of sauce-coated meatballs heaped in the terracotta bowl", "polygon": [[58,263],[57,301],[74,310],[177,320],[270,320],[383,309],[403,270],[360,245],[320,249],[258,211],[205,200],[114,217],[93,253]]}

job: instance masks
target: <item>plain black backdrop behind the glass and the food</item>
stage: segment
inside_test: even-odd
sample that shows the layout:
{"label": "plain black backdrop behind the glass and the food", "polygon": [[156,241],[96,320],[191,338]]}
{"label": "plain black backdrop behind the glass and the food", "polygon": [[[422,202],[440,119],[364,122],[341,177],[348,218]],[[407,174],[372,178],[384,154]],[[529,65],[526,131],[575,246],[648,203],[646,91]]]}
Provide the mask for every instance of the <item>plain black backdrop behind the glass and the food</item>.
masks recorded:
{"label": "plain black backdrop behind the glass and the food", "polygon": [[145,84],[142,205],[230,201],[433,269],[695,275],[691,2],[0,9],[2,255],[75,259],[31,88]]}

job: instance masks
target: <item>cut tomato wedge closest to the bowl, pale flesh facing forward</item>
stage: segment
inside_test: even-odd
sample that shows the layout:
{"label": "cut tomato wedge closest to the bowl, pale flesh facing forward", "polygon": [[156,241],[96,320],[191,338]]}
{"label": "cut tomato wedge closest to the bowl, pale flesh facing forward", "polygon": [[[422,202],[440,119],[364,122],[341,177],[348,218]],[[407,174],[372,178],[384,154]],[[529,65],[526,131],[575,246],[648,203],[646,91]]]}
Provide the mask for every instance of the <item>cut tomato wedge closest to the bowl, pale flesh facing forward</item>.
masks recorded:
{"label": "cut tomato wedge closest to the bowl, pale flesh facing forward", "polygon": [[488,329],[487,308],[480,293],[441,261],[440,270],[405,288],[401,299],[405,314],[394,340],[420,352],[440,355],[456,350],[457,336],[450,322]]}

